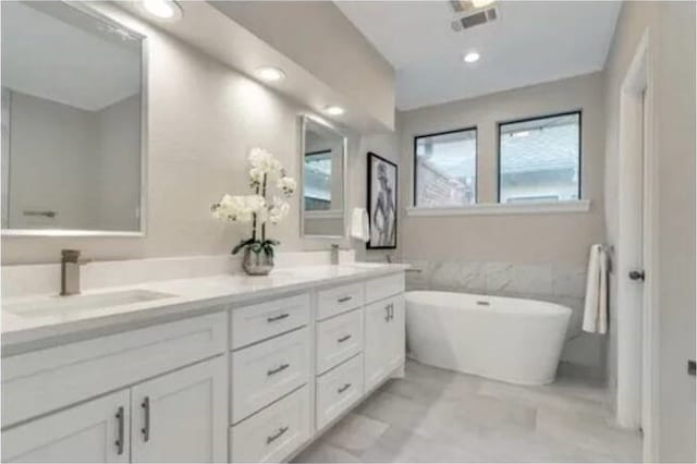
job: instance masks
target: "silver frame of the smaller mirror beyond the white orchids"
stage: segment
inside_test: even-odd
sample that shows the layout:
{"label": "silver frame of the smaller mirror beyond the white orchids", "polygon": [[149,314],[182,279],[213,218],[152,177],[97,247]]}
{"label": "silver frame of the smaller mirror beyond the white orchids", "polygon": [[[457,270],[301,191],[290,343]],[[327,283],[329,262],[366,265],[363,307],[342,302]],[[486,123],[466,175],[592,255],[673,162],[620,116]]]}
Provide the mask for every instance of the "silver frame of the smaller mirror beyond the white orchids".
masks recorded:
{"label": "silver frame of the smaller mirror beyond the white orchids", "polygon": [[[329,122],[325,121],[321,118],[318,118],[314,114],[301,114],[299,117],[301,120],[301,136],[299,136],[299,160],[301,160],[301,168],[299,168],[299,173],[301,173],[301,195],[299,195],[299,204],[301,204],[301,213],[299,213],[299,222],[301,222],[301,227],[299,227],[299,231],[301,231],[301,237],[302,239],[311,239],[311,240],[343,240],[346,237],[346,231],[348,230],[348,208],[346,207],[346,204],[348,202],[348,190],[346,187],[346,180],[348,179],[347,175],[347,169],[348,169],[348,139],[346,137],[346,135],[344,133],[342,133],[339,127],[334,126],[333,124],[330,124]],[[343,148],[343,160],[341,162],[342,166],[342,187],[341,187],[341,194],[343,196],[343,212],[341,215],[341,218],[343,220],[343,224],[342,224],[342,233],[341,235],[314,235],[314,234],[305,234],[305,130],[307,129],[307,123],[308,121],[311,121],[315,124],[319,124],[321,126],[323,126],[325,129],[328,129],[329,131],[333,132],[334,134],[337,134],[338,136],[341,137],[342,139],[342,148]]]}

